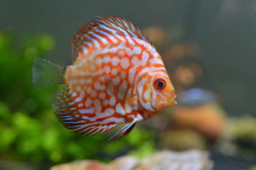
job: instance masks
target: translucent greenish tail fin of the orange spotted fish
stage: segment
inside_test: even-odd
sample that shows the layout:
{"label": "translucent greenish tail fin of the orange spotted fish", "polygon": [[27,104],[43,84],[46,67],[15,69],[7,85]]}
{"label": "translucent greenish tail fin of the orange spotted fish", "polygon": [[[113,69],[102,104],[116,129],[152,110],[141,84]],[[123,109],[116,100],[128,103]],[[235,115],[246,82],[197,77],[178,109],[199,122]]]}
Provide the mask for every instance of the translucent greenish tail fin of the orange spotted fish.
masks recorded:
{"label": "translucent greenish tail fin of the orange spotted fish", "polygon": [[44,59],[35,59],[32,68],[36,89],[45,89],[63,82],[65,68]]}

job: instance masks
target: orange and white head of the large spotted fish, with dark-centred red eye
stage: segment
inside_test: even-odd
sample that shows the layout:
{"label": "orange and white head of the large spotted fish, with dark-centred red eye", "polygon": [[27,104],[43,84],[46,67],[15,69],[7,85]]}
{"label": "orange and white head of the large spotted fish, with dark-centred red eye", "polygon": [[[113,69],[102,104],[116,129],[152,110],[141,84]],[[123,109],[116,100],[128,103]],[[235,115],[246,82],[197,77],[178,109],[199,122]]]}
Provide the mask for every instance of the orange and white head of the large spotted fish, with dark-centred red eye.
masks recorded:
{"label": "orange and white head of the large spotted fish, with dark-centred red eye", "polygon": [[138,99],[144,110],[156,113],[177,104],[172,82],[166,73],[148,72],[138,83]]}

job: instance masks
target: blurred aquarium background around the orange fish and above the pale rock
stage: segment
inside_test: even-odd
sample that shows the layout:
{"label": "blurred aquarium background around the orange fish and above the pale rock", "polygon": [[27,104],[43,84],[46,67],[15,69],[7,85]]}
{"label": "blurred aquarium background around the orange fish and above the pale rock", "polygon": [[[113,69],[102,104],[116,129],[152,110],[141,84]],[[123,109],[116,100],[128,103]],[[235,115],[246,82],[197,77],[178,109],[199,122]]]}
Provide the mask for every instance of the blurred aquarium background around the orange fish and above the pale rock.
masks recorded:
{"label": "blurred aquarium background around the orange fish and above the pale rock", "polygon": [[[35,90],[33,59],[71,64],[70,42],[96,16],[127,18],[152,39],[177,106],[125,138],[63,128],[51,108],[58,87]],[[0,169],[141,159],[159,150],[207,151],[213,169],[256,169],[256,1],[0,1]]]}

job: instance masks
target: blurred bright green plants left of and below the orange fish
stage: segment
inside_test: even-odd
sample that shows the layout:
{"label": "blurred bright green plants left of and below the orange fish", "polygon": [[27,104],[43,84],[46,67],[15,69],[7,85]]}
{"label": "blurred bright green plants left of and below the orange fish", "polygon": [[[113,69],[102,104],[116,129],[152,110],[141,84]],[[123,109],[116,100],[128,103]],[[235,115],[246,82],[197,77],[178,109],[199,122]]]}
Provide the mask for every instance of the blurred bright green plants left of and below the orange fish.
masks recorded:
{"label": "blurred bright green plants left of and below the orange fish", "polygon": [[110,135],[83,137],[62,127],[51,108],[56,87],[35,90],[31,81],[33,59],[52,48],[51,36],[17,39],[0,32],[0,159],[36,166],[46,162],[48,167],[76,159],[108,161],[129,150],[151,152],[152,134],[145,130],[135,128],[129,136],[107,142]]}

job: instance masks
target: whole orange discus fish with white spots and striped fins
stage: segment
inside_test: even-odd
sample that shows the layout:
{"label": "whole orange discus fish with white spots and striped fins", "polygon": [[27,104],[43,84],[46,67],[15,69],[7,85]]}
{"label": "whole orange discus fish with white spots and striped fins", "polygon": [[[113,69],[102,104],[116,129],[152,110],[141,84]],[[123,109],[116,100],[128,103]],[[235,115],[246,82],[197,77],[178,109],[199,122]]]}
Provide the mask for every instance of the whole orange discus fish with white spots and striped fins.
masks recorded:
{"label": "whole orange discus fish with white spots and striped fins", "polygon": [[72,39],[72,52],[72,66],[44,59],[33,65],[37,89],[65,84],[52,105],[68,129],[93,136],[127,123],[111,137],[122,138],[136,122],[176,104],[161,56],[129,20],[111,16],[84,24]]}

